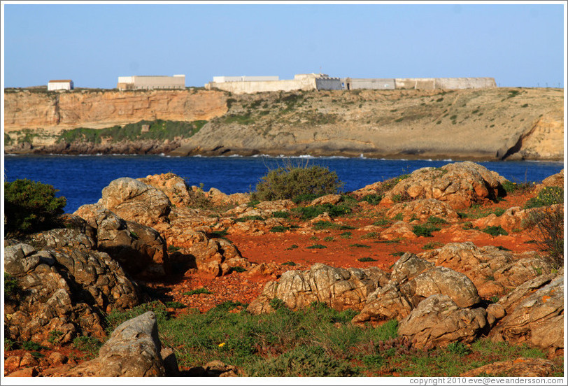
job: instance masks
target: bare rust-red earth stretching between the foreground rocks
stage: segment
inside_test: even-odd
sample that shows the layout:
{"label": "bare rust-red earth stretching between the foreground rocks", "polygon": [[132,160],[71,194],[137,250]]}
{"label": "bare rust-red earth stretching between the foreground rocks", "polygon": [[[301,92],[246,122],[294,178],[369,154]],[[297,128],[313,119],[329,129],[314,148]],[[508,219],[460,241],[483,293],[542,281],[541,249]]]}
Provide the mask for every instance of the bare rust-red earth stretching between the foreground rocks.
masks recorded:
{"label": "bare rust-red earth stretching between the foreground rocks", "polygon": [[[511,194],[498,203],[488,203],[478,208],[480,212],[488,212],[497,208],[507,209],[523,206],[534,194],[530,192]],[[276,263],[278,268],[267,276],[251,276],[243,272],[232,272],[227,276],[210,278],[199,273],[186,273],[183,278],[174,280],[169,285],[155,283],[152,287],[160,287],[166,296],[173,301],[183,303],[188,308],[197,308],[205,312],[225,301],[250,303],[260,295],[264,285],[270,280],[277,280],[281,273],[292,269],[306,270],[315,263],[328,264],[342,268],[367,268],[377,266],[390,271],[402,253],[418,254],[427,248],[440,248],[447,243],[471,241],[478,247],[493,245],[513,252],[537,251],[532,241],[533,236],[527,231],[519,231],[507,236],[491,236],[481,231],[466,231],[461,224],[471,221],[465,218],[458,222],[455,231],[444,231],[455,224],[438,224],[441,231],[434,231],[432,237],[399,238],[397,241],[381,240],[374,231],[362,230],[362,227],[373,224],[383,217],[388,208],[366,206],[357,209],[356,213],[336,219],[337,224],[355,227],[356,229],[324,229],[314,230],[311,227],[292,229],[283,233],[262,235],[228,234],[225,236],[236,245],[241,255],[252,263]],[[386,229],[384,227],[383,229]],[[375,232],[376,233],[376,232]],[[371,235],[369,235],[371,234]],[[310,248],[322,245],[325,248]],[[360,259],[373,259],[361,262]],[[295,265],[287,265],[286,263]],[[191,290],[205,287],[211,294],[187,295]],[[187,310],[176,310],[177,313]]]}

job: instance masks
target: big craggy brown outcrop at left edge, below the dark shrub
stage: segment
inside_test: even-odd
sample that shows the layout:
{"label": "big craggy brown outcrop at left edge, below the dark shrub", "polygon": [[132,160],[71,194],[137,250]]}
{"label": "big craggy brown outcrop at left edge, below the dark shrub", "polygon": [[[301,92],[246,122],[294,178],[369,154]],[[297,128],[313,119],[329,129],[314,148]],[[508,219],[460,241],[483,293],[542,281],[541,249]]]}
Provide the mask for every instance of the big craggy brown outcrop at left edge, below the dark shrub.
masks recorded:
{"label": "big craggy brown outcrop at left edge, below the dark shrub", "polygon": [[38,250],[14,241],[4,248],[4,269],[17,283],[4,308],[7,338],[41,342],[50,331],[59,331],[59,343],[70,342],[76,334],[103,337],[102,313],[139,304],[138,288],[115,260],[78,243],[60,242],[52,238],[54,233],[47,238],[59,241],[52,247]]}

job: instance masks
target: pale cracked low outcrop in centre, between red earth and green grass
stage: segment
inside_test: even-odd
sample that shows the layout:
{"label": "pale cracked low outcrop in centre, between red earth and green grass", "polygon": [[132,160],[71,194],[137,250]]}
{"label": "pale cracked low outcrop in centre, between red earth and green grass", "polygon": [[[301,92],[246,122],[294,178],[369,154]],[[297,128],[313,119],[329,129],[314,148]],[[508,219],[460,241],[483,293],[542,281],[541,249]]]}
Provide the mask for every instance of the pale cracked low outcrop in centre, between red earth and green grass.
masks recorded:
{"label": "pale cracked low outcrop in centre, between red earth and green grass", "polygon": [[247,309],[251,313],[271,312],[272,299],[280,299],[293,310],[313,302],[326,303],[336,310],[360,309],[367,296],[386,280],[387,275],[378,268],[342,269],[317,263],[308,271],[287,271],[278,283],[267,283]]}

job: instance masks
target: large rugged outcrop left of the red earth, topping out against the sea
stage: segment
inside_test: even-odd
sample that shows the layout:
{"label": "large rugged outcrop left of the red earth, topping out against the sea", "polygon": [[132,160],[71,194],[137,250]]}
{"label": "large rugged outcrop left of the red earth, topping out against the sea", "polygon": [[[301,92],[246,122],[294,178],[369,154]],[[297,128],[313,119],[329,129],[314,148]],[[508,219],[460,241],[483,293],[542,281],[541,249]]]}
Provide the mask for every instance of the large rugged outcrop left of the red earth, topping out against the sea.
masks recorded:
{"label": "large rugged outcrop left of the red earth, topping out against the sea", "polygon": [[[230,273],[234,266],[250,267],[230,241],[208,236],[206,231],[211,228],[197,230],[199,224],[203,224],[203,216],[185,206],[194,202],[192,194],[185,182],[173,173],[141,180],[118,178],[103,189],[99,202],[81,206],[75,214],[97,227],[99,234],[104,236],[104,248],[124,257],[125,261],[132,259],[139,264],[133,270],[143,273],[144,277],[169,272],[166,245],[181,248],[175,259],[178,266],[185,269],[199,269],[221,276]],[[173,207],[169,196],[180,203],[180,207]],[[121,222],[121,218],[127,221]],[[99,224],[104,226],[100,231]],[[130,243],[129,235],[134,238]],[[119,253],[128,250],[136,251],[141,258],[133,259],[132,254]]]}

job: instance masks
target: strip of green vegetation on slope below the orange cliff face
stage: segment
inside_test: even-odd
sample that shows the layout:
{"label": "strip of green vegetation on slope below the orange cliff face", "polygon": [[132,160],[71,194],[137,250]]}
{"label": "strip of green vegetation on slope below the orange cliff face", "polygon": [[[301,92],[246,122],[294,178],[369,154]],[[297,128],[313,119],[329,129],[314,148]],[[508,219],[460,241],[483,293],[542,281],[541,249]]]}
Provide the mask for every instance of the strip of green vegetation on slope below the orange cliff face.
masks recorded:
{"label": "strip of green vegetation on slope below the orange cliff face", "polygon": [[59,134],[58,143],[88,142],[101,143],[103,139],[113,143],[123,140],[136,141],[141,139],[172,140],[174,138],[189,138],[193,136],[207,121],[197,120],[193,122],[171,120],[141,120],[124,126],[113,126],[105,129],[89,129],[78,127],[77,129],[65,130]]}

